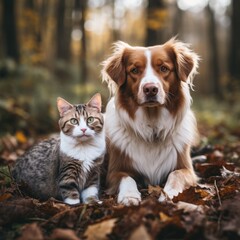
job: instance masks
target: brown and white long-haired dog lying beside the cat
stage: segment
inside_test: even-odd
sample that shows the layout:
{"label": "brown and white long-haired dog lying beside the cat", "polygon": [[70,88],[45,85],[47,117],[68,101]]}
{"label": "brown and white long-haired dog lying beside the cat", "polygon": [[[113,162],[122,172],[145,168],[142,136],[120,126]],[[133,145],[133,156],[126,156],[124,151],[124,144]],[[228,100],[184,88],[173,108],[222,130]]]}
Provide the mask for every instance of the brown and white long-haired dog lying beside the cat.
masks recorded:
{"label": "brown and white long-haired dog lying beside the cat", "polygon": [[103,79],[115,96],[106,108],[109,194],[118,203],[138,204],[138,185],[165,183],[159,201],[196,184],[190,147],[196,120],[189,88],[198,56],[174,38],[163,45],[114,45],[103,63]]}

